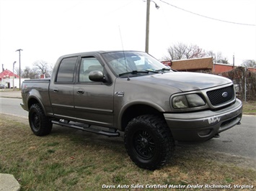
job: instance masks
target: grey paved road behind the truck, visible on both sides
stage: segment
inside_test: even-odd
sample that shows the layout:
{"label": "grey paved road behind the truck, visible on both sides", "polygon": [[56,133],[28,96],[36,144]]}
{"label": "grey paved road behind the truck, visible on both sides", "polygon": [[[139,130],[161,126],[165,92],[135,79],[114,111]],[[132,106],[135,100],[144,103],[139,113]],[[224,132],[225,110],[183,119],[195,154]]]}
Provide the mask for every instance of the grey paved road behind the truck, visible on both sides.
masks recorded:
{"label": "grey paved road behind the truck, visible on both sides", "polygon": [[[27,111],[24,111],[18,98],[1,98],[0,113],[9,113],[27,118]],[[207,150],[213,152],[224,152],[243,157],[256,159],[256,116],[243,116],[241,125],[222,132],[220,138],[211,139],[202,144],[177,145],[177,149]],[[112,139],[112,138],[111,138]]]}

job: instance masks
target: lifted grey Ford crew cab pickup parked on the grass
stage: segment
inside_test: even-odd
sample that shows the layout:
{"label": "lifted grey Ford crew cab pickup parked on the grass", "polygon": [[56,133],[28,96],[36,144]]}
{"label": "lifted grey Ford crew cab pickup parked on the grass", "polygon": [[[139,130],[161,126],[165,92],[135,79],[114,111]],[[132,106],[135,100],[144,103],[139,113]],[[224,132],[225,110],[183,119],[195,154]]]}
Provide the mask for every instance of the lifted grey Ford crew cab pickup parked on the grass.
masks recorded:
{"label": "lifted grey Ford crew cab pickup parked on the grass", "polygon": [[105,136],[124,131],[132,161],[151,170],[168,162],[175,141],[206,141],[242,118],[231,80],[177,72],[137,51],[64,55],[50,79],[22,83],[21,106],[37,136],[53,124]]}

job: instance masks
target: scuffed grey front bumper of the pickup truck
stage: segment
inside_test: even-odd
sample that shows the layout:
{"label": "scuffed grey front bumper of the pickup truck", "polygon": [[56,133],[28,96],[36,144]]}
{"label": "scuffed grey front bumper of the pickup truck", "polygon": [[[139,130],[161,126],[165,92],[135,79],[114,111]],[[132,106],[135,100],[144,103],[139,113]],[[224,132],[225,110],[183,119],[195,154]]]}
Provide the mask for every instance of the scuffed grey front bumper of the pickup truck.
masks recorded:
{"label": "scuffed grey front bumper of the pickup truck", "polygon": [[219,111],[164,113],[172,136],[177,141],[206,141],[241,121],[242,101]]}

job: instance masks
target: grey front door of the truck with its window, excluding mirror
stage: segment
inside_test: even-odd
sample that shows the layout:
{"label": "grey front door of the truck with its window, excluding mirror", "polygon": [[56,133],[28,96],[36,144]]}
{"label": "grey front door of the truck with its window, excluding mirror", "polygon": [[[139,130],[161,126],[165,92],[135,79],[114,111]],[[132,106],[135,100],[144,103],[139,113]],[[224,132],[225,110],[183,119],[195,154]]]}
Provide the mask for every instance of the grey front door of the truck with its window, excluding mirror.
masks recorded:
{"label": "grey front door of the truck with its window, excluding mirror", "polygon": [[76,117],[84,123],[112,127],[114,85],[89,80],[93,70],[105,73],[96,57],[82,57],[78,82],[74,85]]}

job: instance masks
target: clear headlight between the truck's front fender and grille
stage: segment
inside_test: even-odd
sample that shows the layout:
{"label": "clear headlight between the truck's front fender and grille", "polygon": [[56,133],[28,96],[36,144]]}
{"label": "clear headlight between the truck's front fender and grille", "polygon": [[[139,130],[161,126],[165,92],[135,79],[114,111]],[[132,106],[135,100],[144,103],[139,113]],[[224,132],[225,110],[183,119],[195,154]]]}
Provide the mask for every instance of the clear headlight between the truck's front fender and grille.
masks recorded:
{"label": "clear headlight between the truck's front fender and grille", "polygon": [[206,105],[198,94],[177,95],[172,98],[173,108],[194,108]]}

